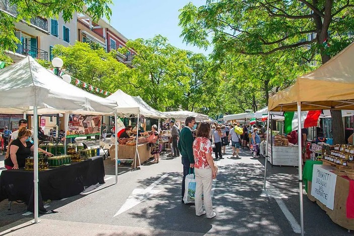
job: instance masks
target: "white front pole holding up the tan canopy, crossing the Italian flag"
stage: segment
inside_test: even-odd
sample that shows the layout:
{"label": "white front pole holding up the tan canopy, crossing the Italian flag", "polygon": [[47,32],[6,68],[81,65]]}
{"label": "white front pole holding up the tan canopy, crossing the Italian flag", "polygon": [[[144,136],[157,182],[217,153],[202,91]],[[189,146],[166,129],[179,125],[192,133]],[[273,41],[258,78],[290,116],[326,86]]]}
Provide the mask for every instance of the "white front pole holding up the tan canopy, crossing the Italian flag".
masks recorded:
{"label": "white front pole holding up the tan canopy, crossing the Italian flag", "polygon": [[299,196],[300,196],[300,223],[301,235],[304,235],[304,206],[303,206],[303,158],[301,133],[301,102],[298,102],[298,150],[299,150]]}

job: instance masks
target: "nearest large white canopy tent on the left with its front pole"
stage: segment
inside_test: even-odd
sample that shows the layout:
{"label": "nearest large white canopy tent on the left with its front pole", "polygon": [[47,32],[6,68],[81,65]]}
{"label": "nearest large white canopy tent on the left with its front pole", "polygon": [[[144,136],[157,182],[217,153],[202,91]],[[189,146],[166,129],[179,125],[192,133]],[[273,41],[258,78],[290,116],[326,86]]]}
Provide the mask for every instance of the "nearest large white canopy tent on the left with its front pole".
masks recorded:
{"label": "nearest large white canopy tent on the left with its front pole", "polygon": [[[30,56],[0,70],[0,100],[0,113],[33,113],[35,147],[38,146],[38,113],[108,114],[117,107],[114,101],[61,80]],[[34,222],[37,223],[37,148],[34,148],[34,156]]]}

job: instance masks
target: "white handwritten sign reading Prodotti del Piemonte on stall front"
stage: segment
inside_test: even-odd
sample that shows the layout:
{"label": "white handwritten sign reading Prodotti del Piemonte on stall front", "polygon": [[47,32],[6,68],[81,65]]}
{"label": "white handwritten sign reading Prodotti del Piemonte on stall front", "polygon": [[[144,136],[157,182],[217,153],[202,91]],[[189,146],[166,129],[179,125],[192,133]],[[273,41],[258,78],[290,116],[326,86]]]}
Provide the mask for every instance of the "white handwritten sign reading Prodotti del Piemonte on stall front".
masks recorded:
{"label": "white handwritten sign reading Prodotti del Piemonte on stall front", "polygon": [[312,172],[311,195],[331,210],[333,210],[334,207],[336,182],[337,175],[324,169],[322,165],[314,165]]}

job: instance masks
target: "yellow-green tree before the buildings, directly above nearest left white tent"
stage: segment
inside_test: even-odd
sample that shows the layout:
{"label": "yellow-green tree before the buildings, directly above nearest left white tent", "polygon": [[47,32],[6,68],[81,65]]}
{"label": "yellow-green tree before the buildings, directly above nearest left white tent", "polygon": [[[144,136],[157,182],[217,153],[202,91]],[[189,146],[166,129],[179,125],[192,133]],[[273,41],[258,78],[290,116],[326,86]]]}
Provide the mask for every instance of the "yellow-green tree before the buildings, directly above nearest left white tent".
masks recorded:
{"label": "yellow-green tree before the buildings, directly above nearest left white tent", "polygon": [[85,83],[110,92],[127,89],[122,74],[128,67],[116,60],[116,51],[107,53],[103,48],[76,42],[69,47],[55,45],[53,55],[63,59],[63,69]]}

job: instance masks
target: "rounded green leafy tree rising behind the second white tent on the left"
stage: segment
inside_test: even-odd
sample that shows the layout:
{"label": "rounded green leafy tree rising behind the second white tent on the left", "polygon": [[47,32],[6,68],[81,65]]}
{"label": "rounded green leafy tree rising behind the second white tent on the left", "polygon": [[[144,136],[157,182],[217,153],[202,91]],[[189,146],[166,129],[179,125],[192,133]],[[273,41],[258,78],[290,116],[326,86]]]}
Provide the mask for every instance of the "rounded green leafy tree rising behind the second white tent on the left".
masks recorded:
{"label": "rounded green leafy tree rising behind the second white tent on the left", "polygon": [[189,90],[187,52],[173,47],[161,35],[129,41],[127,47],[137,53],[132,61],[135,67],[126,74],[134,87],[130,94],[141,96],[158,110],[180,108],[183,95]]}

